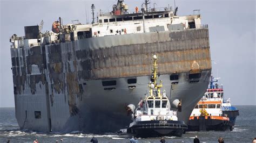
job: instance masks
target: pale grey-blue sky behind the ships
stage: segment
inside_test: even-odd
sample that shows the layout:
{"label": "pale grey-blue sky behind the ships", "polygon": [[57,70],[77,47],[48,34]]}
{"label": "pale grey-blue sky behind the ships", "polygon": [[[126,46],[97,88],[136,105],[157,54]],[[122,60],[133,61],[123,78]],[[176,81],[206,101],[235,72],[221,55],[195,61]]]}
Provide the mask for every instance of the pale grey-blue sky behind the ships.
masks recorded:
{"label": "pale grey-blue sky behind the ships", "polygon": [[[91,22],[90,6],[96,11],[111,11],[116,0],[107,1],[5,1],[0,0],[0,107],[14,107],[9,37],[24,35],[24,26],[40,24],[43,31],[50,31],[51,24],[63,18],[63,23],[79,20],[86,23],[86,12]],[[132,10],[143,0],[126,0]],[[174,0],[151,0],[157,7],[174,5]],[[254,0],[176,0],[178,15],[192,15],[200,9],[202,24],[209,25],[212,73],[219,75],[224,85],[225,98],[233,105],[256,105],[255,62],[255,1]],[[87,9],[87,10],[86,10]]]}

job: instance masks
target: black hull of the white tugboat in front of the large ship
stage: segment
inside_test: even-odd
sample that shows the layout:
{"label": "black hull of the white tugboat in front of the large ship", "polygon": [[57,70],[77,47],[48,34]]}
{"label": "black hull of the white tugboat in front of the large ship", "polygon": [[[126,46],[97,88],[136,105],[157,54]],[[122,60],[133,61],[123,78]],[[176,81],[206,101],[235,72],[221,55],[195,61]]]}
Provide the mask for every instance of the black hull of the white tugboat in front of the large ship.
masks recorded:
{"label": "black hull of the white tugboat in front of the large ship", "polygon": [[131,127],[127,128],[137,138],[154,138],[163,136],[181,137],[187,130],[184,121],[173,120],[152,120],[152,121],[135,121]]}

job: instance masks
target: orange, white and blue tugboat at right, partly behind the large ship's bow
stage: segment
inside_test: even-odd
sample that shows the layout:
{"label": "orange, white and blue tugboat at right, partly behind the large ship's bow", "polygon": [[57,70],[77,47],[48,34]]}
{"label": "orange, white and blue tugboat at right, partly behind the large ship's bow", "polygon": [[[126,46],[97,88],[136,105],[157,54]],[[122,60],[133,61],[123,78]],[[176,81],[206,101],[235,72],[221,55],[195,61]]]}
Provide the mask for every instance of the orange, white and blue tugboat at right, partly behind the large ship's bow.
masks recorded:
{"label": "orange, white and blue tugboat at right, partly behind the large ship's bow", "polygon": [[[187,131],[225,131],[233,130],[238,110],[231,111],[230,99],[224,102],[223,86],[213,85],[213,76],[210,88],[193,109],[188,121]],[[227,110],[228,109],[228,110]],[[232,120],[231,120],[232,119]]]}

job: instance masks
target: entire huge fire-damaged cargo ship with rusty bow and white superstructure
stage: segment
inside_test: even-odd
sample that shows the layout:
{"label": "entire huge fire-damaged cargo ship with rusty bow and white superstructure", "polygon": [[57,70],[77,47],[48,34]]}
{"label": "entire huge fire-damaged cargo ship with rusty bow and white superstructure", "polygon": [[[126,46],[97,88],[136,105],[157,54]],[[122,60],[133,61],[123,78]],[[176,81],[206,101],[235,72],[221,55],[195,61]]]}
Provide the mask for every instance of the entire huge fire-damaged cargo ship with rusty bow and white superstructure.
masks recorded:
{"label": "entire huge fire-damaged cargo ship with rusty bow and white superstructure", "polygon": [[[127,106],[147,91],[151,56],[172,110],[188,121],[211,75],[208,26],[177,8],[129,12],[118,0],[96,23],[26,26],[12,35],[11,59],[19,127],[44,132],[116,132],[130,123]],[[178,108],[179,107],[179,108]],[[178,110],[179,109],[179,110]],[[104,120],[104,121],[103,121]]]}

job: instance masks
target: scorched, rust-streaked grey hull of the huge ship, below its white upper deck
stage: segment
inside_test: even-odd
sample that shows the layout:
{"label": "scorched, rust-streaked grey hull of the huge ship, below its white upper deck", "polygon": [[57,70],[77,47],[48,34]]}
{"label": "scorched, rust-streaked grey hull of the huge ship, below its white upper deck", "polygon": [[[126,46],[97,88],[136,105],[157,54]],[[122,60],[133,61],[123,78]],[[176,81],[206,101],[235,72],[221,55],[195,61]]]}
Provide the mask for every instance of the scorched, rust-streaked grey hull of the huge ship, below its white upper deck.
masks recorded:
{"label": "scorched, rust-streaked grey hull of the huge ship, below its white upper deck", "polygon": [[[147,91],[153,53],[160,58],[160,78],[171,102],[182,100],[178,119],[187,122],[211,75],[207,29],[11,48],[19,126],[46,132],[91,133],[124,128],[130,123],[125,105],[137,105]],[[170,79],[173,73],[178,78]],[[189,78],[193,73],[200,76]],[[136,83],[127,83],[129,78],[136,78]],[[103,86],[103,81],[116,84]]]}

